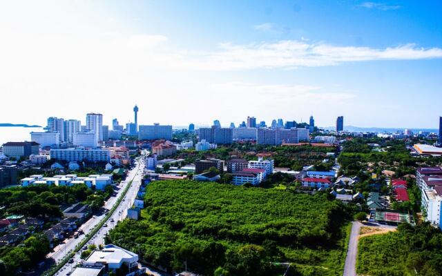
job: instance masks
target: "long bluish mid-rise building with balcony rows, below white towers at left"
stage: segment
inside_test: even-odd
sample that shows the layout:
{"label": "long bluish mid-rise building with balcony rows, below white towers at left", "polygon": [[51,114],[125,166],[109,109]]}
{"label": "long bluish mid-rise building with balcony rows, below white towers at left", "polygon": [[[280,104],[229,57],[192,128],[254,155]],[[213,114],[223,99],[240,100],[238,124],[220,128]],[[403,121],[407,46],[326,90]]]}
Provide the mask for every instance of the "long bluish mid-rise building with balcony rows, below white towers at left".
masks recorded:
{"label": "long bluish mid-rise building with balcony rows, below white towers at left", "polygon": [[108,162],[111,159],[109,150],[102,148],[65,148],[50,150],[50,159],[64,161]]}

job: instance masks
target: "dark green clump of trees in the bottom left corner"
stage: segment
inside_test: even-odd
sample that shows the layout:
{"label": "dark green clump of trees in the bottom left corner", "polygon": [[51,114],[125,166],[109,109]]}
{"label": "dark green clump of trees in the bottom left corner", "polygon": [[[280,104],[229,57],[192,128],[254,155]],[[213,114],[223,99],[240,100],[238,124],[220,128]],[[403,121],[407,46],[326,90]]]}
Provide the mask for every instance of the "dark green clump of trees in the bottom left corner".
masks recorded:
{"label": "dark green clump of trees in the bottom left corner", "polygon": [[17,269],[27,270],[46,258],[50,251],[44,235],[32,235],[22,246],[0,248],[0,275],[16,275]]}

